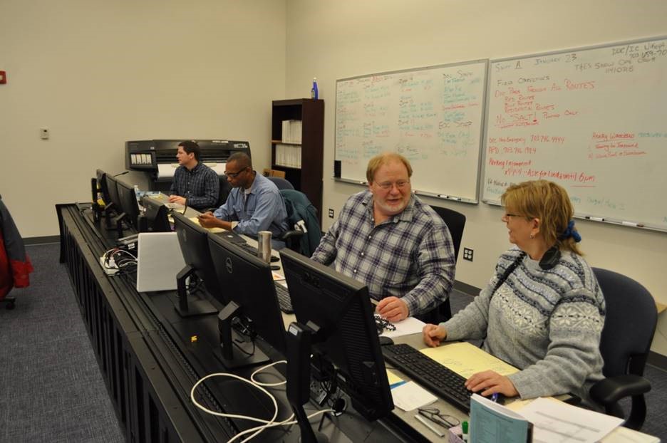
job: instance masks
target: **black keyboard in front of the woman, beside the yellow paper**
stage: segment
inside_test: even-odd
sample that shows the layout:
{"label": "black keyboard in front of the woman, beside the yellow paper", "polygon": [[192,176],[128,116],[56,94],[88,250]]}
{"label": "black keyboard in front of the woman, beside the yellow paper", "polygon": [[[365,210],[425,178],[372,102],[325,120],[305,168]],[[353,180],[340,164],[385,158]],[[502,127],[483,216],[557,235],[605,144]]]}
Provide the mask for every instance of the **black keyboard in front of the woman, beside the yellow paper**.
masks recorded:
{"label": "black keyboard in front of the woman, beside the yellow paper", "polygon": [[472,392],[463,385],[465,377],[441,365],[428,355],[420,353],[410,345],[386,345],[382,347],[382,353],[389,363],[396,369],[405,372],[415,382],[460,410],[470,413]]}

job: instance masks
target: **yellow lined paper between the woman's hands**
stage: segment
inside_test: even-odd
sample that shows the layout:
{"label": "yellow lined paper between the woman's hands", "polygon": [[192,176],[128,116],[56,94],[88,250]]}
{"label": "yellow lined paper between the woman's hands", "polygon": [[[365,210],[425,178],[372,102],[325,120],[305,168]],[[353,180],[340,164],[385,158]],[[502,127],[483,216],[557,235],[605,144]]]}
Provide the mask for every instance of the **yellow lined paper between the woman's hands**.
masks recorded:
{"label": "yellow lined paper between the woman's hands", "polygon": [[451,343],[421,350],[438,363],[447,366],[458,375],[469,378],[470,375],[485,370],[510,375],[519,370],[470,343]]}

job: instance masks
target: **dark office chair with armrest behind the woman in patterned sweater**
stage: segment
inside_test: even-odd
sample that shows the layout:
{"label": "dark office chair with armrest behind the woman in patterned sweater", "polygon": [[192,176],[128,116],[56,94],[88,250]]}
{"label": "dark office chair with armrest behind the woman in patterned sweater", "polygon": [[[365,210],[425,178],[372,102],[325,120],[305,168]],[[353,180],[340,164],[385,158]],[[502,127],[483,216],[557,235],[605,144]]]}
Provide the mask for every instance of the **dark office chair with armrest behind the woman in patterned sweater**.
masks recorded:
{"label": "dark office chair with armrest behind the woman in patterned sweater", "polygon": [[606,269],[593,268],[604,301],[606,318],[600,338],[606,377],[591,387],[592,400],[604,407],[607,415],[625,418],[618,401],[632,397],[624,427],[640,429],[646,419],[644,394],[651,383],[643,377],[658,311],[651,293],[632,278]]}

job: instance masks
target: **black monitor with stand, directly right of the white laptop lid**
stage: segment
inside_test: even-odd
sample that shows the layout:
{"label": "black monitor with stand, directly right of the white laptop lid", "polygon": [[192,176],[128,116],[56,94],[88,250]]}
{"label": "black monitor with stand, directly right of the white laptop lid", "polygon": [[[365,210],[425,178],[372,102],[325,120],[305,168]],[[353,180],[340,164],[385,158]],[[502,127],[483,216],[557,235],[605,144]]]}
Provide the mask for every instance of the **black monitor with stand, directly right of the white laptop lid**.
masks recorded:
{"label": "black monitor with stand, directly right of the white laptop lid", "polygon": [[183,214],[172,212],[172,217],[174,218],[174,230],[178,237],[178,244],[185,261],[185,268],[176,276],[178,303],[174,308],[182,317],[217,313],[218,309],[206,297],[202,297],[201,293],[194,291],[188,297],[185,287],[189,277],[197,276],[200,281],[204,282],[206,291],[213,298],[223,306],[227,303],[227,298],[224,296],[213,269],[208,245],[208,231]]}

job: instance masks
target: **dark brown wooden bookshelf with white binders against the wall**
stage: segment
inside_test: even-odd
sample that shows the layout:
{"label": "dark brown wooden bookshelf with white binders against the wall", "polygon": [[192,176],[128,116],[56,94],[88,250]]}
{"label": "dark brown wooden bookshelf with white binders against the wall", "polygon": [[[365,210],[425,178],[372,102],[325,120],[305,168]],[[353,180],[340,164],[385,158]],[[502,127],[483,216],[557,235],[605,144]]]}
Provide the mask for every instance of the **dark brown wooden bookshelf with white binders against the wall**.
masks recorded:
{"label": "dark brown wooden bookshelf with white binders against the wall", "polygon": [[[292,126],[289,142],[283,142],[283,122],[301,121],[301,143]],[[298,129],[296,129],[298,131]],[[296,138],[294,138],[296,137]],[[317,208],[322,224],[322,167],[324,156],[324,100],[297,98],[274,100],[271,112],[271,167],[284,171],[285,178]]]}

